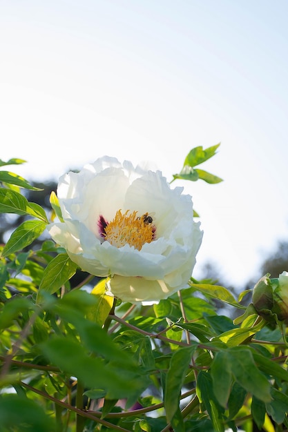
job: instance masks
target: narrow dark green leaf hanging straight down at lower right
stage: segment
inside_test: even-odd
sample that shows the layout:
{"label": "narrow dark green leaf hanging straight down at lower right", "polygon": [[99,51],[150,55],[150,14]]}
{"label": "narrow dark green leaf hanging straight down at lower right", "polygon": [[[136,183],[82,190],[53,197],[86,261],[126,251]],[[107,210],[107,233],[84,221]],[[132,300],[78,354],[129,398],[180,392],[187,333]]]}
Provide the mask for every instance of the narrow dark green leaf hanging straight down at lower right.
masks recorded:
{"label": "narrow dark green leaf hanging straight down at lower right", "polygon": [[211,365],[213,391],[220,405],[227,407],[232,385],[232,373],[229,363],[229,351],[216,353]]}

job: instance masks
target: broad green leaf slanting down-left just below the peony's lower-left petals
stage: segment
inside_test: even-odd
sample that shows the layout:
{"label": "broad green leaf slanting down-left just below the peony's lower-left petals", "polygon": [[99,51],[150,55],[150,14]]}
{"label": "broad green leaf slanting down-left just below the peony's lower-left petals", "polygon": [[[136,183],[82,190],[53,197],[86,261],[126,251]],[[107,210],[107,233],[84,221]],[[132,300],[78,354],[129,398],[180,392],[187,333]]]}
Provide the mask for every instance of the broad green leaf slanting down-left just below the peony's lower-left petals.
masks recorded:
{"label": "broad green leaf slanting down-left just below the peony's lower-left petals", "polygon": [[66,253],[59,253],[52,259],[44,270],[43,278],[39,286],[37,302],[41,302],[43,292],[53,294],[65,284],[70,277],[75,275],[77,264],[71,261]]}

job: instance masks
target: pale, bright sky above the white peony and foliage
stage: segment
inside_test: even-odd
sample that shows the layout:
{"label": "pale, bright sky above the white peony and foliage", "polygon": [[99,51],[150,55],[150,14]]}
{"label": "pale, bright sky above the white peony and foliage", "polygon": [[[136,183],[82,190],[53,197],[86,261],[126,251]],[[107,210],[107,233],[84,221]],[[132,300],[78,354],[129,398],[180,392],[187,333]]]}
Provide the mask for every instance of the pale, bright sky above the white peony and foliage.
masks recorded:
{"label": "pale, bright sky above the white peony and foliage", "polygon": [[221,141],[203,168],[224,182],[184,184],[195,277],[209,258],[257,279],[288,239],[287,16],[286,0],[0,0],[0,159],[27,159],[30,179],[148,159],[170,180]]}

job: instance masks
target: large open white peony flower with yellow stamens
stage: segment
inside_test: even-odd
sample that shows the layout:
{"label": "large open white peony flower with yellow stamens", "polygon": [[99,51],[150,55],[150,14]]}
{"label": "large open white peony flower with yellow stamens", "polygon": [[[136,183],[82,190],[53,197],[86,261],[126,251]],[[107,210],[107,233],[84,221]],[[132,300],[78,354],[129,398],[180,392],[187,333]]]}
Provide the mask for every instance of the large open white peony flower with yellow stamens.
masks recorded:
{"label": "large open white peony flower with yellow stamens", "polygon": [[160,171],[102,157],[59,179],[64,222],[50,235],[70,259],[126,302],[158,301],[187,286],[202,242],[193,204]]}

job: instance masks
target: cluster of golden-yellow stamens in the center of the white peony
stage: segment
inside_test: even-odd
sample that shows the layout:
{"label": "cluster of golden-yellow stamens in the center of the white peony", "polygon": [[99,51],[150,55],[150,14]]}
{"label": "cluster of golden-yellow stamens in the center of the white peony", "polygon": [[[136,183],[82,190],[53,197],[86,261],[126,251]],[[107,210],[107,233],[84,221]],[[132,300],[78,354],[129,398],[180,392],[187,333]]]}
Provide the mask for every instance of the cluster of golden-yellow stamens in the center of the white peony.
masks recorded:
{"label": "cluster of golden-yellow stamens in the center of the white peony", "polygon": [[124,215],[121,210],[117,211],[113,221],[104,227],[103,237],[117,248],[128,243],[140,251],[144,243],[151,243],[154,239],[153,218],[148,213],[139,217],[136,211],[130,214],[128,211]]}

